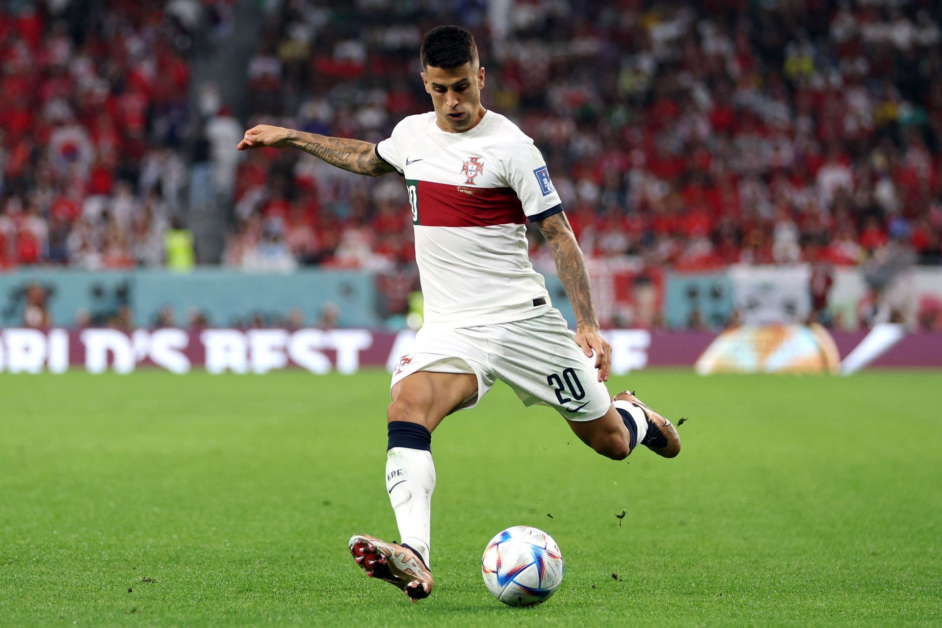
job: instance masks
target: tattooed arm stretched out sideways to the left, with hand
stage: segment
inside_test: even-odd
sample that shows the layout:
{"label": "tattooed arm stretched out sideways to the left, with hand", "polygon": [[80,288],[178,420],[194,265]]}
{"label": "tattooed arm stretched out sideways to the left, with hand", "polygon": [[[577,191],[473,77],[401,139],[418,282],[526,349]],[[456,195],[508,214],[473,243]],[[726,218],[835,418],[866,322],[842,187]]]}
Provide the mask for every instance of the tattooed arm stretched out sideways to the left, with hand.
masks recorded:
{"label": "tattooed arm stretched out sideways to the left, with hand", "polygon": [[337,168],[371,177],[396,171],[376,153],[376,144],[360,139],[318,136],[314,133],[304,133],[268,124],[259,124],[246,131],[245,137],[236,148],[239,151],[247,151],[262,146],[275,148],[293,146],[300,148],[304,153],[320,157]]}

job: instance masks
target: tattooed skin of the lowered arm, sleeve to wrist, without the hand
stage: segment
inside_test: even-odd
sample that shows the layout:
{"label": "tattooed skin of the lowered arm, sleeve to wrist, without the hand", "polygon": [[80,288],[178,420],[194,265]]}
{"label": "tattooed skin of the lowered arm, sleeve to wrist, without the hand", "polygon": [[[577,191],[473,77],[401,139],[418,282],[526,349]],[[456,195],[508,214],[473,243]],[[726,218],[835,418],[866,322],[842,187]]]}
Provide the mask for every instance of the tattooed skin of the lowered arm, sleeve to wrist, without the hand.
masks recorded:
{"label": "tattooed skin of the lowered arm, sleeve to wrist, without the hand", "polygon": [[537,223],[540,231],[553,251],[556,271],[560,282],[569,296],[576,313],[578,327],[588,326],[598,329],[598,318],[592,300],[592,282],[585,257],[579,249],[573,228],[562,212],[544,218]]}

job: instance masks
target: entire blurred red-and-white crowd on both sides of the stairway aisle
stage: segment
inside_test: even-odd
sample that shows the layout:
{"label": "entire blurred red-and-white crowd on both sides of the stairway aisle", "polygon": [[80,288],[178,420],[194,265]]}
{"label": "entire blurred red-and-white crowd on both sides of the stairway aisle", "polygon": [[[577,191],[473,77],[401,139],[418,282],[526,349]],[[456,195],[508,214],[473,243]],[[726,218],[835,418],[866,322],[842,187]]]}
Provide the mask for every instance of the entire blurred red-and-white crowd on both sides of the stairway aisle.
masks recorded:
{"label": "entire blurred red-and-white crowd on both sides of the stairway aisle", "polygon": [[[423,33],[464,24],[487,69],[484,104],[543,151],[587,254],[677,269],[862,265],[893,243],[942,261],[932,0],[268,4],[247,126],[387,137],[430,110]],[[219,262],[384,270],[400,300],[414,287],[397,177],[228,151],[239,123],[211,89],[192,100],[211,102],[219,141],[192,141],[188,99],[205,87],[189,78],[192,16],[212,8],[231,29],[231,0],[7,5],[0,268],[161,266],[187,246],[191,264],[187,200],[205,159],[233,193]],[[535,232],[531,243],[546,256]]]}

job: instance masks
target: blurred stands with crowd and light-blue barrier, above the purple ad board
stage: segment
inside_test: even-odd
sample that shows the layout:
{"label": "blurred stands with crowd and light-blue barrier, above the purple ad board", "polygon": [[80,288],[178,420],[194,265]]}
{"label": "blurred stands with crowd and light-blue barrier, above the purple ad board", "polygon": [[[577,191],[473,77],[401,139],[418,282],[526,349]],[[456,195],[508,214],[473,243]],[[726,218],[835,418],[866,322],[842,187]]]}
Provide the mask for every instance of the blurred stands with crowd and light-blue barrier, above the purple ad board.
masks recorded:
{"label": "blurred stands with crowd and light-blue barrier, above the purple ad board", "polygon": [[6,327],[414,326],[395,177],[233,146],[258,122],[387,137],[429,108],[422,33],[454,22],[478,33],[485,104],[545,155],[604,327],[942,330],[934,3],[58,0],[2,16]]}

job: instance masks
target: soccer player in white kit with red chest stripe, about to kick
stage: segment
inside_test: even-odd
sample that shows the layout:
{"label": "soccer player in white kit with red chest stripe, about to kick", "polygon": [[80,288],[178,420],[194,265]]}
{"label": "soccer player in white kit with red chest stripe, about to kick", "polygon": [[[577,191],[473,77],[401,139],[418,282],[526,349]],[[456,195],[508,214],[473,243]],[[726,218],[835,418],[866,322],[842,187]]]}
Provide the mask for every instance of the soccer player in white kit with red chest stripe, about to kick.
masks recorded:
{"label": "soccer player in white kit with red chest stripe, about to kick", "polygon": [[[433,112],[410,116],[379,144],[275,126],[249,129],[239,150],[293,146],[358,174],[405,178],[425,324],[399,360],[387,411],[386,490],[401,542],[349,541],[367,575],[427,597],[431,432],[508,383],[526,405],[555,408],[582,442],[621,460],[643,444],[673,458],[671,422],[623,392],[609,397],[611,347],[599,334],[585,259],[543,156],[512,121],[480,104],[484,68],[474,37],[438,26],[422,43]],[[525,223],[539,227],[577,318],[575,333],[530,265]]]}

